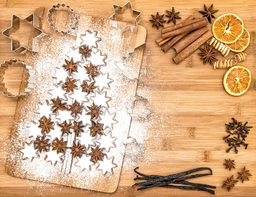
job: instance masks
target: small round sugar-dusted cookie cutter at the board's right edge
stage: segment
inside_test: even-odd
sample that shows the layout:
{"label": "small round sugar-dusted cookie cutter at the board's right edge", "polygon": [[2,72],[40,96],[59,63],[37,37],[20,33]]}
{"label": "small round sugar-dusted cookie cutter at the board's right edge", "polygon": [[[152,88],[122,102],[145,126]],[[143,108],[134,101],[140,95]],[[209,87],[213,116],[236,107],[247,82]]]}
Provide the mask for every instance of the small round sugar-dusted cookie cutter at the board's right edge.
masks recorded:
{"label": "small round sugar-dusted cookie cutter at the board's right edge", "polygon": [[[145,104],[144,111],[141,114],[134,114],[133,113],[134,103],[135,101],[139,101],[139,100],[143,101]],[[135,117],[135,118],[146,118],[150,114],[151,109],[152,108],[148,99],[145,99],[142,96],[132,96],[130,97],[130,99],[128,99],[126,104],[126,110],[128,114],[130,114],[131,117]]]}

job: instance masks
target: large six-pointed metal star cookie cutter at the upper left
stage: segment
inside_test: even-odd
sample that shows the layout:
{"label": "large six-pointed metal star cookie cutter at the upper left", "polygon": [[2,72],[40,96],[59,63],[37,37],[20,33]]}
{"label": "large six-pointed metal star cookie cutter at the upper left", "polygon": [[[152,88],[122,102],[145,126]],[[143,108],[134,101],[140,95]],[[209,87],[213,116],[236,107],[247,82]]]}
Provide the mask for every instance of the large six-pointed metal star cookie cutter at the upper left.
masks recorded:
{"label": "large six-pointed metal star cookie cutter at the upper left", "polygon": [[[25,20],[27,22],[32,21],[32,28],[36,29],[35,33],[33,34],[35,36],[33,37],[32,46],[28,46],[28,45],[27,46],[20,46],[20,42],[11,37],[11,34],[16,32],[20,28],[20,20]],[[38,52],[39,51],[39,39],[40,39],[40,37],[42,35],[48,35],[48,34],[43,32],[40,29],[40,18],[38,16],[36,16],[34,14],[31,14],[31,15],[27,16],[26,18],[22,19],[22,18],[18,17],[17,15],[13,14],[12,19],[11,19],[11,27],[4,30],[2,32],[2,35],[11,39],[11,51],[22,52],[22,51],[27,49],[27,50],[30,50],[30,51]]]}

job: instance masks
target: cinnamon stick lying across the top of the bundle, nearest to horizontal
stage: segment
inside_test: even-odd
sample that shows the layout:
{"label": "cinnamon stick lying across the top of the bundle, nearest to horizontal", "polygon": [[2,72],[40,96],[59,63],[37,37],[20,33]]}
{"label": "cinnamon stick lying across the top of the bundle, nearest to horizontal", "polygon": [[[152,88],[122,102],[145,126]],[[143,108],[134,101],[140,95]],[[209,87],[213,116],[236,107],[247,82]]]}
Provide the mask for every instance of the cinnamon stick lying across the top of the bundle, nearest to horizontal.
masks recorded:
{"label": "cinnamon stick lying across the top of the bundle, nearest to horizontal", "polygon": [[166,37],[171,37],[174,35],[179,35],[184,32],[193,31],[200,27],[207,26],[207,24],[208,24],[208,20],[207,20],[207,18],[204,18],[204,20],[201,20],[199,22],[195,22],[195,23],[189,24],[187,26],[183,26],[181,28],[174,29],[173,31],[168,31],[167,33],[162,34],[162,37],[166,38]]}

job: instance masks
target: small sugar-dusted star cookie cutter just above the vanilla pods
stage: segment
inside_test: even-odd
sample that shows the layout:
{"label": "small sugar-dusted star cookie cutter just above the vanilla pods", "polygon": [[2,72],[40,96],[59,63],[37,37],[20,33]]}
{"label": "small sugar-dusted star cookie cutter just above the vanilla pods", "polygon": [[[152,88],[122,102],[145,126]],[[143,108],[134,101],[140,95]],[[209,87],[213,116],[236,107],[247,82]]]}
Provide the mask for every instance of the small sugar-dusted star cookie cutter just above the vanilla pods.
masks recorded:
{"label": "small sugar-dusted star cookie cutter just above the vanilla pods", "polygon": [[[126,140],[126,142],[123,142],[123,144],[126,149],[124,155],[129,157],[132,161],[134,161],[137,157],[143,156],[143,153],[142,153],[143,144],[139,144],[135,138],[129,137]],[[133,145],[135,147],[135,150],[128,152],[129,146],[133,146]]]}

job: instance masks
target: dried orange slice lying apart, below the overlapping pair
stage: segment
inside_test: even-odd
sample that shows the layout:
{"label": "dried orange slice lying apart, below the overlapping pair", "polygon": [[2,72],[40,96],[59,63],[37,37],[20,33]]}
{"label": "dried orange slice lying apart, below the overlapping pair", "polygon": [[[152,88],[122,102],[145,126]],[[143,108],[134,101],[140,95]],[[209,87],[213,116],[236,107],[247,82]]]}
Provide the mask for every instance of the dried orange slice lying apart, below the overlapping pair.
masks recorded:
{"label": "dried orange slice lying apart, below the overlapping pair", "polygon": [[252,82],[251,71],[244,66],[233,66],[225,74],[224,88],[232,96],[245,94]]}

